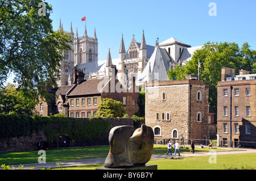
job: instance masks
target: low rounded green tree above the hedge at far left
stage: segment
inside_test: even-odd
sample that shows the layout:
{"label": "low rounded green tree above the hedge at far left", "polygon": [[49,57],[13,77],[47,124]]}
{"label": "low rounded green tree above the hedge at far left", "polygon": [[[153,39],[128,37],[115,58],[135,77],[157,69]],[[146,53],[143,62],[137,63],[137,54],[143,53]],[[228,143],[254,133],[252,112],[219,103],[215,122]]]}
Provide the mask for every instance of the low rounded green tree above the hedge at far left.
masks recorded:
{"label": "low rounded green tree above the hedge at far left", "polygon": [[35,106],[38,102],[34,96],[24,90],[15,89],[14,85],[9,85],[0,92],[0,113],[36,115]]}

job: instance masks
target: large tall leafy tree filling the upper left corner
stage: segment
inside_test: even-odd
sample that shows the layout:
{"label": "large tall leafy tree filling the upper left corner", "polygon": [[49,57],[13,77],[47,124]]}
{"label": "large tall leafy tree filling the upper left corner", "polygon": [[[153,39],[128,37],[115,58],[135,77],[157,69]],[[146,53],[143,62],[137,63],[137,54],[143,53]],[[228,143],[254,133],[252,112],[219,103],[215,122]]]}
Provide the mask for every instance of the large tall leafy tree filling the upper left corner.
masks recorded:
{"label": "large tall leafy tree filling the upper left corner", "polygon": [[46,86],[56,86],[61,51],[71,48],[71,39],[52,30],[51,5],[44,2],[46,15],[39,14],[41,2],[0,0],[0,86],[14,73],[20,89],[44,99],[49,97]]}

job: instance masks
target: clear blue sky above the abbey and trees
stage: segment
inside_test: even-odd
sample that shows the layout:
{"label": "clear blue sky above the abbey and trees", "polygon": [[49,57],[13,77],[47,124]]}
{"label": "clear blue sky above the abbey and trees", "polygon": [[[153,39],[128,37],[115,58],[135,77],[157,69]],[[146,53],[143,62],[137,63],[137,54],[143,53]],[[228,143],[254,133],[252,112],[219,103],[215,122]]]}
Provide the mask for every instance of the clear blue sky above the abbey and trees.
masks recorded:
{"label": "clear blue sky above the abbey and trees", "polygon": [[[78,28],[79,36],[84,35],[86,16],[88,36],[93,36],[94,28],[98,38],[98,61],[106,60],[108,49],[112,58],[118,58],[121,36],[125,48],[130,45],[133,35],[141,42],[142,31],[148,45],[155,45],[175,37],[192,47],[208,41],[248,42],[256,49],[256,1],[235,0],[130,0],[130,1],[67,1],[47,0],[52,5],[53,30],[59,28],[59,20],[64,30],[69,31],[72,21],[73,31]],[[209,3],[216,3],[216,16],[210,16]]]}

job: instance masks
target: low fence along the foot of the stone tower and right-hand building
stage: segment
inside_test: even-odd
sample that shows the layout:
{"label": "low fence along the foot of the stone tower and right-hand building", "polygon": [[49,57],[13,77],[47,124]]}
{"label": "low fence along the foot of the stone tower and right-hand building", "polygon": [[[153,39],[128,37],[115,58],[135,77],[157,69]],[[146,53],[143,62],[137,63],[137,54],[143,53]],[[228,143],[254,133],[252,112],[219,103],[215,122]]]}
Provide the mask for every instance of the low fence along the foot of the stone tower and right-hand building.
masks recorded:
{"label": "low fence along the foot of the stone tower and right-hand building", "polygon": [[[191,140],[186,139],[163,139],[163,140],[157,140],[155,139],[154,144],[158,145],[167,145],[168,142],[171,141],[172,144],[179,141],[180,146],[190,145]],[[210,144],[210,141],[213,142],[213,146],[218,147],[230,147],[230,148],[256,148],[256,142],[251,141],[217,141],[217,140],[203,140],[203,139],[193,139],[193,142],[195,145],[200,146],[208,146]]]}

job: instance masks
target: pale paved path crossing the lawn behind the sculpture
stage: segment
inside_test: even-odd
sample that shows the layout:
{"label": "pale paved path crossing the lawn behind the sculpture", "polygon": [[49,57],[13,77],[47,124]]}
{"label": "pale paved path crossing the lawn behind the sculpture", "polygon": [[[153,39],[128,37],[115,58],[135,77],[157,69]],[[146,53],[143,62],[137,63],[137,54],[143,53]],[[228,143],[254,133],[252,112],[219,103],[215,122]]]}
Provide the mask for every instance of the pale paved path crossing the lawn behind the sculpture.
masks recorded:
{"label": "pale paved path crossing the lawn behind the sculpture", "polygon": [[[214,149],[212,149],[214,151]],[[223,151],[216,151],[217,155],[221,154],[241,154],[241,153],[256,153],[256,149],[237,149],[237,150],[223,150]],[[174,153],[172,153],[174,154]],[[209,151],[198,151],[195,153],[181,153],[181,157],[200,157],[200,156],[207,156],[212,155]],[[151,159],[163,159],[163,158],[171,158],[170,154],[167,156],[166,154],[155,154],[152,155]],[[179,154],[176,153],[175,157],[179,157]],[[62,167],[71,167],[71,166],[80,166],[80,165],[92,165],[92,164],[103,164],[105,162],[105,158],[96,158],[96,159],[82,159],[76,161],[63,161],[63,162],[47,162],[47,163],[35,163],[35,164],[25,164],[23,169],[29,170],[31,167],[34,167],[34,170],[39,169],[47,169],[50,167],[51,169],[57,168],[58,166],[56,163],[59,163]],[[19,165],[10,166],[10,169],[17,169]]]}

